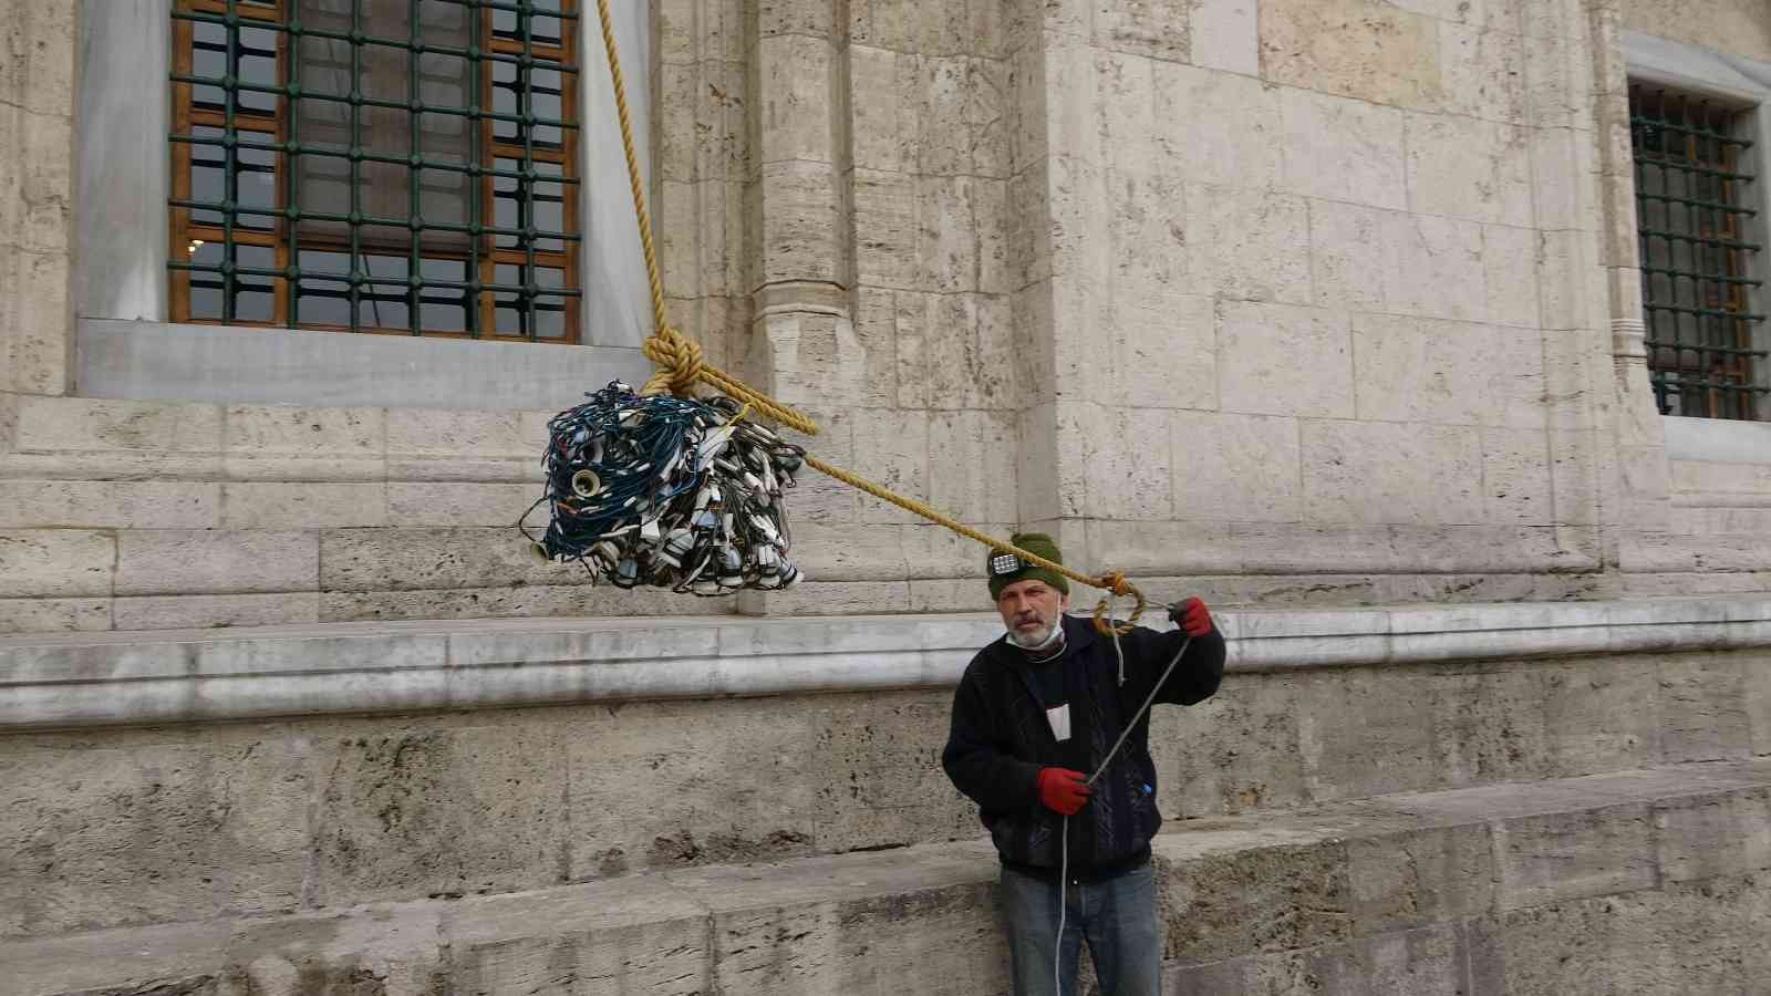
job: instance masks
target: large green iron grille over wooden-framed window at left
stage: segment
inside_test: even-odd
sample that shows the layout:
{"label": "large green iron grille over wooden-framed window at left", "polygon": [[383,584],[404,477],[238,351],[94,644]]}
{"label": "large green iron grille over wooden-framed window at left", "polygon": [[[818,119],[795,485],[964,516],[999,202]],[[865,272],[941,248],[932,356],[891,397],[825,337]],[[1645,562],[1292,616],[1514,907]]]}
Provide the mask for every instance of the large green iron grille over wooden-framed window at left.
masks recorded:
{"label": "large green iron grille over wooden-framed window at left", "polygon": [[576,0],[175,0],[174,321],[576,342]]}

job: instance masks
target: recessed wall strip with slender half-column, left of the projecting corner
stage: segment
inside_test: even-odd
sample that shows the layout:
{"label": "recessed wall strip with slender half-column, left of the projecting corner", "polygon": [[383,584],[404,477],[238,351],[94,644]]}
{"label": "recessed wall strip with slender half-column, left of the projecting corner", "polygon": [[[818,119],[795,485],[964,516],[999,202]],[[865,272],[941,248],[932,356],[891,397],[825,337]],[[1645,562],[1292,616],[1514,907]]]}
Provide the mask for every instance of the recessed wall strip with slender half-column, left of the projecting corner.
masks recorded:
{"label": "recessed wall strip with slender half-column, left of the projecting corner", "polygon": [[[760,383],[806,406],[820,455],[967,523],[1020,517],[1024,356],[1011,312],[1011,39],[1004,5],[762,4],[746,181]],[[981,551],[809,479],[813,574],[747,611],[972,608]]]}

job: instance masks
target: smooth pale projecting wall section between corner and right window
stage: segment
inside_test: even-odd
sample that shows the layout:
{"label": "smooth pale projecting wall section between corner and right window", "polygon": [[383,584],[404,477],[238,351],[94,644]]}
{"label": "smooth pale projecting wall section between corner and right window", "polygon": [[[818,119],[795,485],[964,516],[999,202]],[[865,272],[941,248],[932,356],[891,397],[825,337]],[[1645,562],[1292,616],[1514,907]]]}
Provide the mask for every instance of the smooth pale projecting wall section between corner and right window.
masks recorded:
{"label": "smooth pale projecting wall section between corner and right window", "polygon": [[1027,517],[1158,576],[1613,560],[1585,5],[1045,11]]}

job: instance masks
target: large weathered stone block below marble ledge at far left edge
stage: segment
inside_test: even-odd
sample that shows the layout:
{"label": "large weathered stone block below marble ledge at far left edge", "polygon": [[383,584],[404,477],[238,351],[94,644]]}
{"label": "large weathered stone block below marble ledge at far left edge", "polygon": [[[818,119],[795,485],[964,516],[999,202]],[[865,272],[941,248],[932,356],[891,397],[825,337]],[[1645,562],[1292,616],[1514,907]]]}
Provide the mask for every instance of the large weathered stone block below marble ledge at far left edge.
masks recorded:
{"label": "large weathered stone block below marble ledge at far left edge", "polygon": [[[27,750],[19,750],[25,746]],[[0,934],[292,909],[312,743],[225,730],[7,744]]]}

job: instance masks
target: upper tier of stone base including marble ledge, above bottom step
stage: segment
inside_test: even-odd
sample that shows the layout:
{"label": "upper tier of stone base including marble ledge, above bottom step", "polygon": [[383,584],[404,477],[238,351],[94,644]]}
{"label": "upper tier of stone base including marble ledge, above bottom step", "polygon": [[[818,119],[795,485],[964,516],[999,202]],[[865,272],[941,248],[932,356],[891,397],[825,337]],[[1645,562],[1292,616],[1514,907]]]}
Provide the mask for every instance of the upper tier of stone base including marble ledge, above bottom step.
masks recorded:
{"label": "upper tier of stone base including marble ledge, above bottom step", "polygon": [[[1771,753],[1764,601],[1222,613],[1171,819]],[[0,938],[942,844],[990,617],[0,638]]]}

